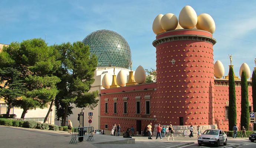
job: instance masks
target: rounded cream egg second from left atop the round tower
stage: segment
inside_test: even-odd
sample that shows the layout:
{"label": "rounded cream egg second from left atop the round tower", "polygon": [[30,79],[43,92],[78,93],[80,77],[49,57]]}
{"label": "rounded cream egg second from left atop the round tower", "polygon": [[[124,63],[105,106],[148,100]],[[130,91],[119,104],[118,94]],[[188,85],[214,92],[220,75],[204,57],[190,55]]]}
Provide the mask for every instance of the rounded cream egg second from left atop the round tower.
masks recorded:
{"label": "rounded cream egg second from left atop the round tower", "polygon": [[178,26],[178,19],[174,14],[167,13],[162,17],[160,25],[165,31],[174,30]]}

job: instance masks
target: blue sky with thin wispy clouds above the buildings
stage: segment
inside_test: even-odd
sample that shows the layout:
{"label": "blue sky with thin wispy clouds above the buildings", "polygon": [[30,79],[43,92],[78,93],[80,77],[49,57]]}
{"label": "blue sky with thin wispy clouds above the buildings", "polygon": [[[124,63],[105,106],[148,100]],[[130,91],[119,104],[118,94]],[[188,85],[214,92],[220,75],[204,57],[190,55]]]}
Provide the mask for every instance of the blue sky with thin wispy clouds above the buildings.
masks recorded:
{"label": "blue sky with thin wispy clouds above the buildings", "polygon": [[220,60],[225,75],[232,54],[239,76],[242,63],[252,71],[256,58],[256,1],[224,0],[1,0],[0,43],[45,38],[49,45],[82,41],[96,30],[113,30],[123,36],[138,65],[155,69],[155,34],[152,22],[158,14],[173,13],[190,5],[197,15],[210,14],[216,24],[214,62]]}

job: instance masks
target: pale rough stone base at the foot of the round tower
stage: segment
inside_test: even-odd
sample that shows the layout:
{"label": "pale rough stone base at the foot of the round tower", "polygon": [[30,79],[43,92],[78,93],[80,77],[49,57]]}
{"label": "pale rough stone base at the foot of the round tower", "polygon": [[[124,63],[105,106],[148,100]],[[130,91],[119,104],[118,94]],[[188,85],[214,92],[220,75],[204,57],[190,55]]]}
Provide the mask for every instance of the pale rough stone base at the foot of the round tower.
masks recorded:
{"label": "pale rough stone base at the foot of the round tower", "polygon": [[[158,124],[155,124],[154,125],[154,131],[153,131],[153,135],[157,135],[157,126]],[[169,125],[162,125],[162,127],[166,128],[167,126]],[[197,126],[198,125],[194,125],[193,126],[193,135],[194,137],[196,136],[197,137]],[[174,131],[174,134],[173,136],[174,137],[183,137],[183,136],[189,136],[190,135],[190,130],[189,130],[190,126],[188,125],[173,125],[173,131]],[[201,131],[201,134],[206,130],[206,129],[217,129],[217,125],[214,124],[214,125],[200,125],[200,131]]]}

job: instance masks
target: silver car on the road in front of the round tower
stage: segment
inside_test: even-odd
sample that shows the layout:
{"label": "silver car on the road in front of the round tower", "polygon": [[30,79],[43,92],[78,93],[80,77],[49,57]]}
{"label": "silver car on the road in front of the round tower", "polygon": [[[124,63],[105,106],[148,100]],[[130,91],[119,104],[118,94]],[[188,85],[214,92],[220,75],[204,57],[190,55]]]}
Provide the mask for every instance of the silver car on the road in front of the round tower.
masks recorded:
{"label": "silver car on the road in front of the round tower", "polygon": [[219,146],[220,144],[227,145],[227,135],[220,129],[207,129],[197,138],[198,145],[202,144],[214,144]]}

